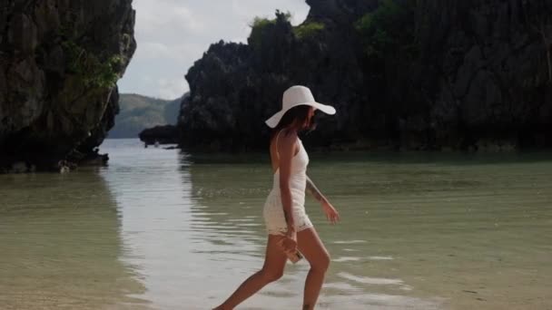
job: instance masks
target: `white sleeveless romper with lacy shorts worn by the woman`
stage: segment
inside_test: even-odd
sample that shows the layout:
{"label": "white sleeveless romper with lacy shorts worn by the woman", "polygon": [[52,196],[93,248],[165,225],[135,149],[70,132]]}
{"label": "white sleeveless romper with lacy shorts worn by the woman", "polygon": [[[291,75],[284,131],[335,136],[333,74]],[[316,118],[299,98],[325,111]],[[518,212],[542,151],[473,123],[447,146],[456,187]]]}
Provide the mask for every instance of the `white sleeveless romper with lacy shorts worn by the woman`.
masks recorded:
{"label": "white sleeveless romper with lacy shorts worn by the woman", "polygon": [[[278,138],[276,137],[276,145]],[[299,152],[291,159],[291,211],[295,223],[295,230],[301,231],[311,228],[312,223],[305,212],[305,189],[307,187],[307,165],[309,164],[309,155],[299,139]],[[278,151],[277,151],[278,152]],[[283,235],[288,230],[288,225],[283,215],[283,206],[281,204],[280,191],[280,168],[273,175],[272,189],[267,197],[264,208],[263,218],[266,224],[266,230],[269,235]]]}

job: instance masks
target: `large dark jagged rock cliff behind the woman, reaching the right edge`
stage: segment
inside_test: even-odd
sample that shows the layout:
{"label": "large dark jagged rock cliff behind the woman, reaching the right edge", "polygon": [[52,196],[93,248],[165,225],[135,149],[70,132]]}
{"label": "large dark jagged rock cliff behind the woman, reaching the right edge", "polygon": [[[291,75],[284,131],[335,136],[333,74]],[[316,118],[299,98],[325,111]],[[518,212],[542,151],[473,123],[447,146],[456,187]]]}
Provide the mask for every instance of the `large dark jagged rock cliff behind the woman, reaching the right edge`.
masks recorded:
{"label": "large dark jagged rock cliff behind the woman, reaching the right edge", "polygon": [[265,149],[292,84],[336,106],[311,146],[552,147],[552,3],[307,1],[307,20],[257,20],[248,44],[212,44],[186,74],[183,148]]}

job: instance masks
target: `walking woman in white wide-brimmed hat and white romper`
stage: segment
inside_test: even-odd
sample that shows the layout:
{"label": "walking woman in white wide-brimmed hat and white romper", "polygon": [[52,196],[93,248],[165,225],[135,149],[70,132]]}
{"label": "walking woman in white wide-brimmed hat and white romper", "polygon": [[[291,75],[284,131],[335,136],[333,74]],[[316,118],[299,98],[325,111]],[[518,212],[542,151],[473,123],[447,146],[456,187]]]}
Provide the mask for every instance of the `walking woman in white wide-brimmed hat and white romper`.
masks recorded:
{"label": "walking woman in white wide-brimmed hat and white romper", "polygon": [[281,111],[266,121],[273,129],[271,163],[274,174],[272,190],[263,210],[269,235],[264,265],[215,309],[233,309],[263,286],[278,280],[283,275],[286,260],[297,250],[311,264],[305,281],[303,309],[314,308],[330,265],[330,255],[305,213],[305,190],[320,202],[332,224],[339,220],[336,209],[307,177],[309,156],[298,138],[300,131],[312,129],[315,109],[335,114],[333,107],[315,102],[307,87],[292,86],[283,93]]}

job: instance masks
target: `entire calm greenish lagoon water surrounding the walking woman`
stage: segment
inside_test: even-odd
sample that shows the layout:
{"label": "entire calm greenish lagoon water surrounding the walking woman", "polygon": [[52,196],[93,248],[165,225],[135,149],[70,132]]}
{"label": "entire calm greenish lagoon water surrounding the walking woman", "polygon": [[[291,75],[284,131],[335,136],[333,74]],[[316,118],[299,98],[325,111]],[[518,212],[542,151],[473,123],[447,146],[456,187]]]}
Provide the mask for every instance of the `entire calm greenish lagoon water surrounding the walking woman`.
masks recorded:
{"label": "entire calm greenish lagoon water surrounding the walking woman", "polygon": [[[0,305],[206,309],[261,267],[266,155],[102,148],[105,169],[0,176]],[[551,172],[547,154],[311,154],[342,218],[307,199],[332,257],[320,309],[551,308]],[[298,308],[307,271],[240,308]]]}

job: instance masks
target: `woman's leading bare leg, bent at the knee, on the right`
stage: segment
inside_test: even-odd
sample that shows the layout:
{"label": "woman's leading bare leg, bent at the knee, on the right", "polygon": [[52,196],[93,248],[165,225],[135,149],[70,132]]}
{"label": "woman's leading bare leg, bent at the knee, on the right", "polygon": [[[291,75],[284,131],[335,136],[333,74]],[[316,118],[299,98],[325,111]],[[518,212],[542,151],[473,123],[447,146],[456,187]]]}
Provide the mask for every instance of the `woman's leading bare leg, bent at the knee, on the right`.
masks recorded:
{"label": "woman's leading bare leg, bent at the knee, on the right", "polygon": [[309,270],[305,280],[302,307],[303,310],[311,310],[314,309],[318,295],[320,295],[320,288],[324,282],[326,270],[330,266],[330,255],[314,228],[298,232],[297,243],[299,250],[311,264],[311,270]]}

